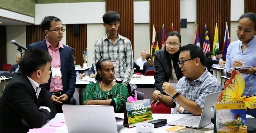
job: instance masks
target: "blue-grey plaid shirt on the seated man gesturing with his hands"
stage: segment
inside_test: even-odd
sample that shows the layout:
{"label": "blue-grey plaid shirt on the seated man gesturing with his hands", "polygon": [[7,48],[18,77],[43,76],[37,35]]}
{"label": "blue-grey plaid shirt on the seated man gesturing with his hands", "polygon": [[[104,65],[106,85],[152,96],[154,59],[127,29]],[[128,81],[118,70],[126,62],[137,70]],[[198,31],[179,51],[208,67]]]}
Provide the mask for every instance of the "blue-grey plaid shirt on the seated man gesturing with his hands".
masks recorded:
{"label": "blue-grey plaid shirt on the seated man gesturing with his hands", "polygon": [[[195,101],[199,107],[203,108],[206,94],[221,91],[222,87],[218,79],[209,73],[205,68],[205,72],[197,80],[192,82],[189,81],[187,77],[182,77],[178,81],[177,87],[175,89],[179,91],[184,97]],[[179,105],[177,101],[173,100],[173,102],[176,103],[176,107]],[[173,111],[173,114],[180,113],[176,107]],[[183,114],[191,113],[187,110],[184,110]]]}

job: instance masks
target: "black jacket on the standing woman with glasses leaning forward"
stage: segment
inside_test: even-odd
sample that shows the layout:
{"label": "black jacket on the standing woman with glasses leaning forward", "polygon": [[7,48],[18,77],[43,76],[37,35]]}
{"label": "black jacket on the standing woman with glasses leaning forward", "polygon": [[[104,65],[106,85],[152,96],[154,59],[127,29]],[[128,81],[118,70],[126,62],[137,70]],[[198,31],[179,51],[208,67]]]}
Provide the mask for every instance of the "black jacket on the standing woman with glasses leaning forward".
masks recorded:
{"label": "black jacket on the standing woman with glasses leaning forward", "polygon": [[[168,82],[171,74],[172,69],[174,67],[177,79],[183,77],[181,68],[179,68],[179,65],[177,62],[179,62],[179,51],[175,53],[174,55],[171,55],[166,51],[166,49],[158,50],[155,52],[155,89],[159,90],[162,94],[167,95],[165,92],[163,92],[163,83]],[[173,66],[171,65],[171,59],[173,59]]]}

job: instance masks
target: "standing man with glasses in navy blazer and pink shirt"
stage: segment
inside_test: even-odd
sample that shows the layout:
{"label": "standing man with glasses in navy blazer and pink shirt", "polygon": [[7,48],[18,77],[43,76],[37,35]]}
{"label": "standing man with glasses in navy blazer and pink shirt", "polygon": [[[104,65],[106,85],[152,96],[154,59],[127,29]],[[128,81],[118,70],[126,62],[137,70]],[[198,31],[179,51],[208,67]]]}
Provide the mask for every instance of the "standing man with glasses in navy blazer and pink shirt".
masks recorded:
{"label": "standing man with glasses in navy blazer and pink shirt", "polygon": [[75,92],[76,73],[72,51],[61,43],[65,30],[59,18],[46,16],[40,25],[46,38],[28,45],[27,49],[42,49],[52,57],[51,78],[43,86],[55,104],[57,113],[62,113],[61,105],[73,104],[70,103],[70,99]]}

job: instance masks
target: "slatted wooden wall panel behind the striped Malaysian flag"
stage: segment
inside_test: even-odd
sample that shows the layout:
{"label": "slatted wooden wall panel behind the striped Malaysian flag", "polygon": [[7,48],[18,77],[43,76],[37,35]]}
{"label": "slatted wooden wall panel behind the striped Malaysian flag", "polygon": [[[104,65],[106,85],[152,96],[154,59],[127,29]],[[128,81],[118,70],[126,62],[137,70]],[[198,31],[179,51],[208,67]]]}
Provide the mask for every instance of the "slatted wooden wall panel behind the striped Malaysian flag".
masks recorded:
{"label": "slatted wooden wall panel behind the striped Malaysian flag", "polygon": [[211,51],[213,51],[215,24],[217,23],[219,31],[219,50],[222,50],[226,30],[226,22],[230,33],[230,7],[230,0],[197,0],[197,24],[199,28],[200,42],[202,48],[205,38],[206,23],[210,38],[210,48]]}

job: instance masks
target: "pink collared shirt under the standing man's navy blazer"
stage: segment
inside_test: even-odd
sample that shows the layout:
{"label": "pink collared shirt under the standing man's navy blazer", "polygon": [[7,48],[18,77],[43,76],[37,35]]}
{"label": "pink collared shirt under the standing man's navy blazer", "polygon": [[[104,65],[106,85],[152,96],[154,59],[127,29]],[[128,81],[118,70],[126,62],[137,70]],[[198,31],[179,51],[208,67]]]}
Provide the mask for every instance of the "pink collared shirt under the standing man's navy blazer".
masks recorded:
{"label": "pink collared shirt under the standing man's navy blazer", "polygon": [[[53,49],[53,46],[49,43],[49,41],[45,38],[46,45],[48,48],[49,55],[52,58],[51,68],[60,68],[61,69],[61,55],[59,53],[59,48],[64,48],[61,41],[59,41],[59,45]],[[51,77],[50,83],[50,92],[59,92],[63,90],[62,78],[53,78]]]}

